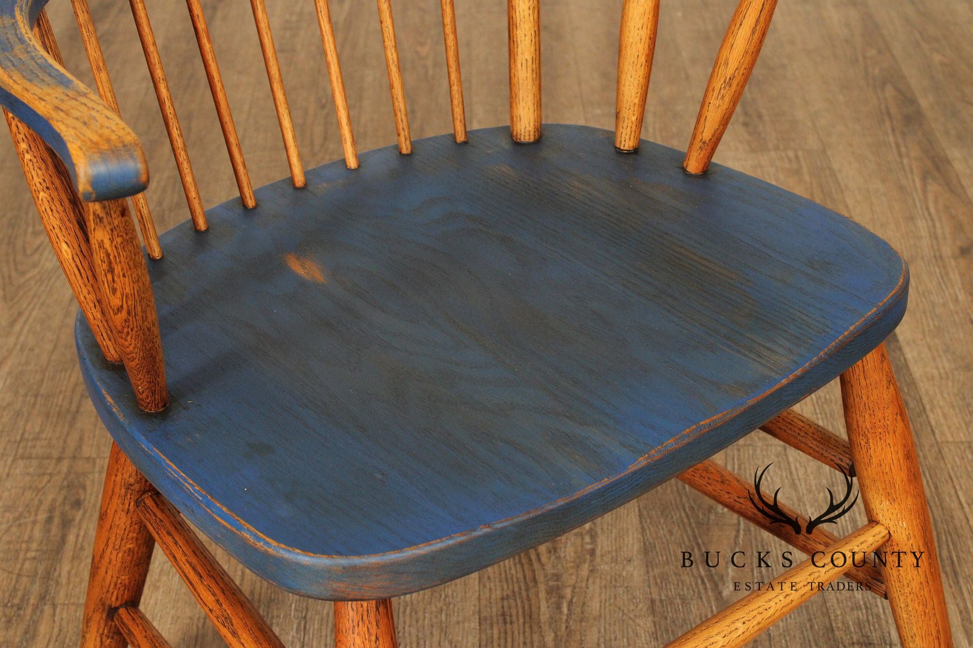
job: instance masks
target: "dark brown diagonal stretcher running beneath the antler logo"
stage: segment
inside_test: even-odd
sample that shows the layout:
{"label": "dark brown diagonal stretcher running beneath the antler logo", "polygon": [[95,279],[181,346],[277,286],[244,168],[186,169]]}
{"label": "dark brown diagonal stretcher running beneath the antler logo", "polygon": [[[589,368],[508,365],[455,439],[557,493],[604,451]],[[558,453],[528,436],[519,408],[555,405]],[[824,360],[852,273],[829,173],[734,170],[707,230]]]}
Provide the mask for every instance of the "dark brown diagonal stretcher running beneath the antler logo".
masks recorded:
{"label": "dark brown diagonal stretcher running beneath the antler logo", "polygon": [[[756,500],[756,488],[740,479],[734,472],[713,461],[706,460],[698,463],[681,473],[679,480],[703,493],[706,497],[719,502],[747,522],[754,523],[765,531],[773,533],[776,537],[809,556],[815,552],[826,550],[840,540],[838,536],[820,526],[815,527],[810,534],[805,532],[795,533],[786,524],[769,521],[760,515],[752,504]],[[774,495],[764,493],[764,499],[771,501],[774,499]],[[781,513],[792,520],[797,520],[802,528],[807,527],[807,516],[799,514],[786,504],[779,502],[778,504]],[[870,592],[885,597],[885,585],[882,580],[882,573],[878,568],[866,564],[863,567],[852,567],[845,575],[851,580],[867,586]]]}

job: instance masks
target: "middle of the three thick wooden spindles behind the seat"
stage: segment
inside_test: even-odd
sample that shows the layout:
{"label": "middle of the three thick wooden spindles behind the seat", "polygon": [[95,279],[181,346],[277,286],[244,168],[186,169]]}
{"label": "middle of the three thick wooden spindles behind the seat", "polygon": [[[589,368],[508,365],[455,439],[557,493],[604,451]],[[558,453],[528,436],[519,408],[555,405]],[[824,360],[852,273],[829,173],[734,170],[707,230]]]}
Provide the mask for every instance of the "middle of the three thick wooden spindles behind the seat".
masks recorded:
{"label": "middle of the three thick wooden spindles behind the seat", "polygon": [[642,136],[658,28],[659,0],[626,0],[622,5],[615,98],[615,148],[621,153],[636,151]]}

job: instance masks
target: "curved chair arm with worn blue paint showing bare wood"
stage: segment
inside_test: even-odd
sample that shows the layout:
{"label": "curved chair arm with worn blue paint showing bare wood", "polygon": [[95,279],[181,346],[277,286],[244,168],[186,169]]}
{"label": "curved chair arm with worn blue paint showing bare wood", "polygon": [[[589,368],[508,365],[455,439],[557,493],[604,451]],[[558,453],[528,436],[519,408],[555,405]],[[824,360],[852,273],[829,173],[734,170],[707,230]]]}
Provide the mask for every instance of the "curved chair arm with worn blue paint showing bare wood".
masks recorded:
{"label": "curved chair arm with worn blue paint showing bare wood", "polygon": [[85,200],[138,194],[149,171],[135,133],[34,36],[47,2],[0,0],[0,104],[54,149]]}

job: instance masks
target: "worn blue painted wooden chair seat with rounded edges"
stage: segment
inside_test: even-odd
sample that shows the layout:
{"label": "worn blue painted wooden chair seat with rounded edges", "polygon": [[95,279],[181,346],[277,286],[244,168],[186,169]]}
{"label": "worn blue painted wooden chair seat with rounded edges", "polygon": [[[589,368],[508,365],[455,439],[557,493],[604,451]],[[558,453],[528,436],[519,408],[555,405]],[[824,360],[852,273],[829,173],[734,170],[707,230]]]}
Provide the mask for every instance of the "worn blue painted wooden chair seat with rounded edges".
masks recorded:
{"label": "worn blue painted wooden chair seat with rounded edges", "polygon": [[882,239],[612,133],[506,127],[333,162],[210,209],[151,262],[171,404],[136,406],[84,318],[90,395],[192,522],[277,585],[383,598],[588,522],[878,345]]}

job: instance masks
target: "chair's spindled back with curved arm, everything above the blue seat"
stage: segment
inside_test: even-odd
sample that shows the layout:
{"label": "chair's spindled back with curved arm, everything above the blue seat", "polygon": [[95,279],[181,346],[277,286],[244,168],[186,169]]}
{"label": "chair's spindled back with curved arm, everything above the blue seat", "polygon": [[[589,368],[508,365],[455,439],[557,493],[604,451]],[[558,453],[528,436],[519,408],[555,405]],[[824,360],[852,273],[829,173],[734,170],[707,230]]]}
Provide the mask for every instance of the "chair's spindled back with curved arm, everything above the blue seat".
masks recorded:
{"label": "chair's spindled back with curved arm, everything above the blue seat", "polygon": [[[48,0],[0,0],[0,102],[58,261],[105,357],[125,363],[143,409],[167,402],[162,345],[151,285],[125,197],[132,197],[149,256],[162,249],[144,194],[148,171],[119,106],[87,0],[71,0],[94,83],[90,92],[63,69],[43,14]],[[358,167],[351,115],[328,0],[313,0],[328,69],[344,161]],[[377,0],[392,115],[400,153],[412,152],[406,94],[391,0]],[[186,0],[206,79],[244,206],[256,205],[246,162],[200,0]],[[270,94],[295,187],[306,184],[297,134],[274,47],[266,0],[251,0]],[[450,113],[456,142],[467,140],[454,0],[440,0]],[[510,128],[520,143],[541,136],[540,0],[507,0]],[[162,122],[193,224],[207,228],[202,199],[176,116],[144,0],[129,0],[159,101]],[[623,0],[619,35],[615,146],[638,149],[662,0]],[[776,0],[739,0],[723,39],[694,127],[684,167],[702,173],[726,131],[767,35]],[[37,25],[37,34],[32,27]],[[51,54],[49,54],[51,53]],[[79,198],[80,196],[80,198]]]}

